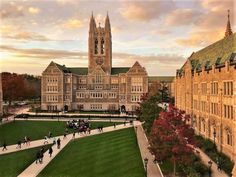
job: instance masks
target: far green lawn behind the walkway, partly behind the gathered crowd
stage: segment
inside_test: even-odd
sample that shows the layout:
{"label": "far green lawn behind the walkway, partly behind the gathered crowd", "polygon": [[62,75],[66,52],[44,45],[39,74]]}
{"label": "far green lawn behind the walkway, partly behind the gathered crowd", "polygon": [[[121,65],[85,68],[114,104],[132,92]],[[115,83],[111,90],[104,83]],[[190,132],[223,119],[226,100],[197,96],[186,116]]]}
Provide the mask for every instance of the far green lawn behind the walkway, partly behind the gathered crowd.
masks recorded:
{"label": "far green lawn behind the walkway, partly behind the gathered crowd", "polygon": [[[120,124],[120,123],[116,123]],[[112,126],[111,122],[91,122],[92,129],[98,125]],[[0,146],[4,140],[7,145],[16,144],[17,141],[23,140],[25,136],[29,136],[31,140],[43,139],[48,132],[51,131],[53,136],[63,135],[66,128],[66,122],[57,121],[15,121],[0,126]],[[69,129],[73,131],[72,129]]]}

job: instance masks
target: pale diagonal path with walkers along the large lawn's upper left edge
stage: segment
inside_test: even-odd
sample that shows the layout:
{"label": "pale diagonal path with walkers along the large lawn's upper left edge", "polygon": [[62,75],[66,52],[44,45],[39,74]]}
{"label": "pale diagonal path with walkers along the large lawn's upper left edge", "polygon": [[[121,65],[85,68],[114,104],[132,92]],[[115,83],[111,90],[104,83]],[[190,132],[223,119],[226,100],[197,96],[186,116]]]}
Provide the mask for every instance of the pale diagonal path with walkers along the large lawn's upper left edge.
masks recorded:
{"label": "pale diagonal path with walkers along the large lawn's upper left edge", "polygon": [[[103,128],[103,133],[106,132],[111,132],[111,131],[115,131],[115,130],[120,130],[120,129],[124,129],[124,128],[130,128],[133,127],[133,125],[130,124],[126,124],[126,126],[124,126],[123,124],[121,125],[117,125],[116,128],[114,128],[113,126],[110,127],[105,127]],[[76,134],[76,139],[77,138],[82,138],[82,137],[87,137],[87,136],[92,136],[92,135],[97,135],[97,134],[101,134],[101,132],[98,132],[98,130],[92,130],[91,134],[87,134],[87,135],[78,135]],[[67,138],[61,141],[61,148],[57,149],[56,145],[53,145],[53,156],[50,158],[48,151],[46,151],[44,153],[44,158],[43,158],[43,163],[42,164],[36,164],[35,162],[33,162],[28,168],[26,168],[20,175],[18,175],[18,177],[36,177],[46,166],[47,164],[72,140],[72,134],[67,135]],[[42,140],[41,140],[42,141]],[[42,144],[39,143],[38,146],[41,146]]]}

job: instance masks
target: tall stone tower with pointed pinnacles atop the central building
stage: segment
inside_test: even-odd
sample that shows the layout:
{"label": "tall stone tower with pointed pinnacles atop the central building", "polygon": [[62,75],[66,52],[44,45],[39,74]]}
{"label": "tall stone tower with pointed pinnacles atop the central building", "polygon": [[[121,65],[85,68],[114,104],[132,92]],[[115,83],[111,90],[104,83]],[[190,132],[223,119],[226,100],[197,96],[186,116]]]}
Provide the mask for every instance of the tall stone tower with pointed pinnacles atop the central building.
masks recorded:
{"label": "tall stone tower with pointed pinnacles atop the central building", "polygon": [[101,27],[100,23],[97,27],[93,14],[89,24],[88,39],[88,72],[91,74],[97,66],[101,66],[103,71],[111,74],[112,67],[112,42],[111,42],[111,26],[109,16],[105,19],[105,27]]}

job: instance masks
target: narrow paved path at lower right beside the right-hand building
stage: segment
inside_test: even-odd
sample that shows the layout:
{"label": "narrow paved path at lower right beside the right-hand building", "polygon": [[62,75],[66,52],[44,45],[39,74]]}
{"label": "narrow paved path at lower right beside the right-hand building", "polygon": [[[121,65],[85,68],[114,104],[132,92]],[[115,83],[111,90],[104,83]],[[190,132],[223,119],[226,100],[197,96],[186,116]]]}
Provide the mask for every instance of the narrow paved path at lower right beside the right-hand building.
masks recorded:
{"label": "narrow paved path at lower right beside the right-hand building", "polygon": [[[211,160],[201,149],[195,148],[199,153],[196,153],[202,160],[202,162],[208,166],[208,162]],[[212,161],[212,160],[211,160]],[[212,161],[212,167],[211,167],[211,176],[212,177],[228,177],[228,175],[224,171],[218,171],[217,170],[217,164]]]}

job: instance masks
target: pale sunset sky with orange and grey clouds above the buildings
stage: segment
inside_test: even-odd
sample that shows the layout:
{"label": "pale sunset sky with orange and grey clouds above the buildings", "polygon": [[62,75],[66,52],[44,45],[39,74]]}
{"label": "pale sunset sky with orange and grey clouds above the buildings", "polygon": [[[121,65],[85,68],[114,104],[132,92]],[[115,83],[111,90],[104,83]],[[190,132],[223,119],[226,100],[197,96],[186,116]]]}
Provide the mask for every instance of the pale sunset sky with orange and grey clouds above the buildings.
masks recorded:
{"label": "pale sunset sky with orange and grey clouds above the buildings", "polygon": [[224,37],[233,0],[0,1],[1,71],[41,75],[50,61],[87,67],[91,13],[112,27],[113,66],[137,60],[149,75],[175,75],[186,58]]}

